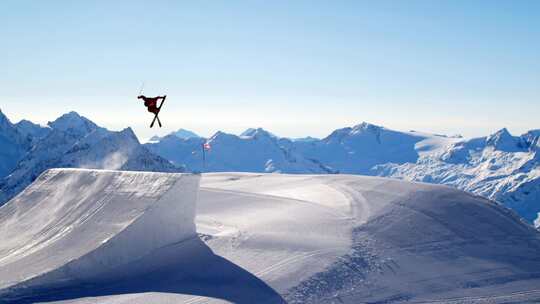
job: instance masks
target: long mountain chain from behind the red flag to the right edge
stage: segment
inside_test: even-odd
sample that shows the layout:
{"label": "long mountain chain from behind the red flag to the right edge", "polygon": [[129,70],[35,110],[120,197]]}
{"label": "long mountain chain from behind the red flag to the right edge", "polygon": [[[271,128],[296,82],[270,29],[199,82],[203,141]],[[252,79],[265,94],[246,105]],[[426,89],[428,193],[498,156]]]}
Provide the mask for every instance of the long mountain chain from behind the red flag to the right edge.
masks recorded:
{"label": "long mountain chain from behind the red flag to the right edge", "polygon": [[[147,147],[174,163],[202,170],[205,141],[167,136]],[[208,141],[212,148],[205,171],[394,177],[446,184],[498,200],[531,223],[540,212],[540,130],[512,136],[502,129],[464,139],[361,123],[321,140],[289,140],[248,129],[240,136],[218,132]]]}

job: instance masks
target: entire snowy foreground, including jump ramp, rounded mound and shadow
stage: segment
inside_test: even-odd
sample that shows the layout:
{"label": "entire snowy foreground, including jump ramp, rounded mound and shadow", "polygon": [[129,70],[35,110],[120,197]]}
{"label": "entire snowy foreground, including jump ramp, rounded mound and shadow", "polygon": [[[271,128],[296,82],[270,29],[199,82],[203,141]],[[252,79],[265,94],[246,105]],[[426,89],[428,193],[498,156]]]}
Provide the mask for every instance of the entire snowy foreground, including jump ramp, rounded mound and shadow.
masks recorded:
{"label": "entire snowy foreground, including jump ramp, rounded mound and shadow", "polygon": [[0,302],[540,301],[540,235],[484,198],[250,173],[204,174],[197,193],[199,178],[46,171],[0,208]]}

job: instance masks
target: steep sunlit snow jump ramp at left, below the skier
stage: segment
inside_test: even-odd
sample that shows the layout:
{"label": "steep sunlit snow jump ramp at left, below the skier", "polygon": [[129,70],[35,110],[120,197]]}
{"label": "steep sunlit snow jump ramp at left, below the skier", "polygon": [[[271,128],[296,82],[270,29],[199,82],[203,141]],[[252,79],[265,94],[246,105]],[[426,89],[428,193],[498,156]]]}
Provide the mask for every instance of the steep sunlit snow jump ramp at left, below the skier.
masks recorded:
{"label": "steep sunlit snow jump ramp at left, below the skier", "polygon": [[52,169],[0,208],[0,302],[118,279],[195,236],[199,176]]}

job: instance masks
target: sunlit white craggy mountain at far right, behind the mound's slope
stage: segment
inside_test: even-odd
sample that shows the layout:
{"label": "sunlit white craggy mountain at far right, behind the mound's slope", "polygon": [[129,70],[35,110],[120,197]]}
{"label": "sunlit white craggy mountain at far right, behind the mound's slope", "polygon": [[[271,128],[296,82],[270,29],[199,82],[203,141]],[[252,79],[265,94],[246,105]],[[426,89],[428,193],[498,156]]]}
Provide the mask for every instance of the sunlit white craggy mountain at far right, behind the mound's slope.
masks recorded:
{"label": "sunlit white craggy mountain at far right, behind the mound's slope", "polygon": [[527,221],[540,212],[539,130],[508,130],[451,143],[414,162],[381,164],[373,174],[454,186],[502,202]]}

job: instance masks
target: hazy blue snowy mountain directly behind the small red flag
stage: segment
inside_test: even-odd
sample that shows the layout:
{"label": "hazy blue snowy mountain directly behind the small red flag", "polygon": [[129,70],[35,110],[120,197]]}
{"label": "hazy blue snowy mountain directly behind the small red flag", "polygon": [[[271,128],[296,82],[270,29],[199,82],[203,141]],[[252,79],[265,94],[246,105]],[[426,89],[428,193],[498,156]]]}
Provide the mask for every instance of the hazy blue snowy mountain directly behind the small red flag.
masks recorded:
{"label": "hazy blue snowy mountain directly behind the small red flag", "polygon": [[[208,142],[203,164],[202,144]],[[261,129],[248,129],[240,136],[217,132],[209,139],[182,139],[168,135],[157,143],[145,145],[149,150],[175,164],[194,171],[239,171],[282,173],[334,173],[318,160],[304,157],[295,144]]]}

